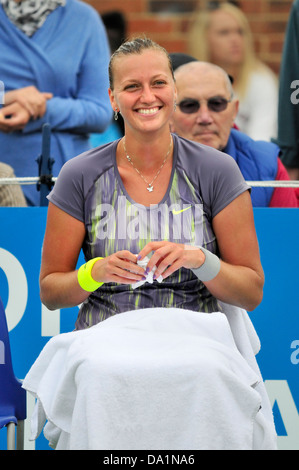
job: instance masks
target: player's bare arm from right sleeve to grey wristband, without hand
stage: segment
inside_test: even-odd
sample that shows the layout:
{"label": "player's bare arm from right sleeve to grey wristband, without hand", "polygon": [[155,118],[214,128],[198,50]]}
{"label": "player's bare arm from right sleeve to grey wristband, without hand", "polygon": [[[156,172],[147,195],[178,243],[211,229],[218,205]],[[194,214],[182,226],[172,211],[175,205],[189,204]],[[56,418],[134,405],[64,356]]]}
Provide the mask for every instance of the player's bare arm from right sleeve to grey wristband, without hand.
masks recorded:
{"label": "player's bare arm from right sleeve to grey wristband, without hand", "polygon": [[205,285],[219,300],[251,311],[262,301],[264,272],[249,193],[243,193],[217,214],[213,228],[221,270]]}

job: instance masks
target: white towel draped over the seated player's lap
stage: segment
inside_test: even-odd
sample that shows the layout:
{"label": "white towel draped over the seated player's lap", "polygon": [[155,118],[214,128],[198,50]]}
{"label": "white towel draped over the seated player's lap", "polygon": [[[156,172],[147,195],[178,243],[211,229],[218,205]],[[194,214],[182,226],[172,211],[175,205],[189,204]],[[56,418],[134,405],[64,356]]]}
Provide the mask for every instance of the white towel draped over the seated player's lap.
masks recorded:
{"label": "white towel draped over the seated player's lap", "polygon": [[52,338],[23,386],[57,449],[272,449],[259,381],[224,314],[156,308]]}

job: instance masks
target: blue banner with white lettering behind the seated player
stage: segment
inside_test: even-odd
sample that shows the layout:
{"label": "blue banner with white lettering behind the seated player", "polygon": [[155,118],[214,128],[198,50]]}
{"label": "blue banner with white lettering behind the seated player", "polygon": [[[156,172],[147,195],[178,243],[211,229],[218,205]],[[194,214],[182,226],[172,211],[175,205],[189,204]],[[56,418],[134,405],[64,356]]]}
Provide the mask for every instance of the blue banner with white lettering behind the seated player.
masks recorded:
{"label": "blue banner with white lettering behind the seated player", "polygon": [[[50,337],[72,331],[78,308],[48,311],[39,298],[39,269],[47,208],[0,208],[0,296],[6,307],[15,375],[24,378]],[[265,271],[262,304],[251,320],[262,348],[257,356],[280,449],[299,450],[299,210],[255,209]],[[83,262],[81,255],[79,263]],[[250,286],[248,286],[250,289]],[[28,399],[28,415],[33,400]],[[29,426],[26,423],[26,436]],[[5,448],[0,432],[0,449]],[[28,449],[48,449],[43,437]]]}

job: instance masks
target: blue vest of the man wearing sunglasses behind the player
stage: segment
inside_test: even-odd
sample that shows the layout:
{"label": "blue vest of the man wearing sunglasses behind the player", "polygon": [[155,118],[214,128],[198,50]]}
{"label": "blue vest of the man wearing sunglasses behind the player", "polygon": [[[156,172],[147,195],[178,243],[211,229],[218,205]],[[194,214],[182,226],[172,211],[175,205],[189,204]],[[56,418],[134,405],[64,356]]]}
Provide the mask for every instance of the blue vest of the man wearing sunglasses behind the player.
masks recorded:
{"label": "blue vest of the man wearing sunglasses behind the player", "polygon": [[[272,142],[255,141],[236,129],[231,134],[225,153],[237,162],[246,181],[274,181],[278,170],[279,147]],[[253,207],[268,207],[274,188],[252,188]]]}

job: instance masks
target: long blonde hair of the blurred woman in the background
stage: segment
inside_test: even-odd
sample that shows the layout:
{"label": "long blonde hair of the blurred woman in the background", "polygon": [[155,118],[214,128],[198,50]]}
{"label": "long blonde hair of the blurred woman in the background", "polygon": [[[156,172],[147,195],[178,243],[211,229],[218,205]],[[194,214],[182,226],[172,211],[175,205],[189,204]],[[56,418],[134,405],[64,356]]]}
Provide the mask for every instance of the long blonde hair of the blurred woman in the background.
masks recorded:
{"label": "long blonde hair of the blurred woman in the background", "polygon": [[[188,53],[198,60],[211,62],[207,33],[211,23],[211,15],[214,11],[221,10],[229,13],[235,18],[242,28],[245,38],[245,57],[240,67],[240,74],[236,83],[236,92],[239,97],[244,97],[248,81],[252,72],[256,70],[268,70],[255,55],[253,47],[252,33],[249,22],[244,13],[230,3],[219,3],[217,8],[197,11],[191,23],[188,36]],[[216,64],[217,65],[217,64]],[[273,74],[274,75],[274,74]]]}

